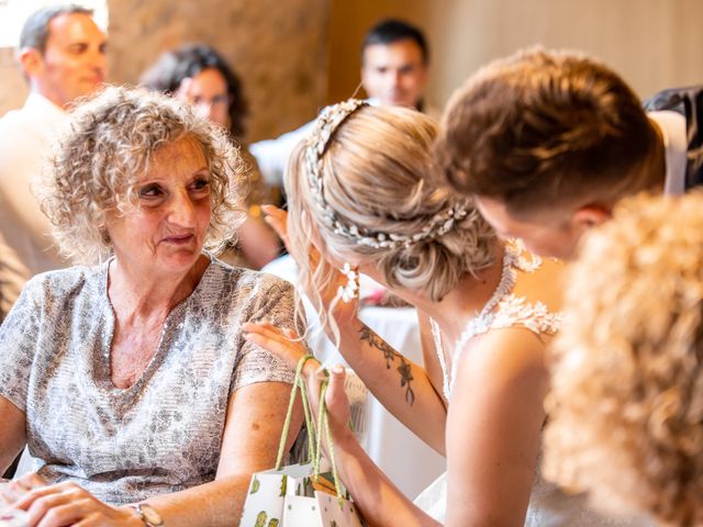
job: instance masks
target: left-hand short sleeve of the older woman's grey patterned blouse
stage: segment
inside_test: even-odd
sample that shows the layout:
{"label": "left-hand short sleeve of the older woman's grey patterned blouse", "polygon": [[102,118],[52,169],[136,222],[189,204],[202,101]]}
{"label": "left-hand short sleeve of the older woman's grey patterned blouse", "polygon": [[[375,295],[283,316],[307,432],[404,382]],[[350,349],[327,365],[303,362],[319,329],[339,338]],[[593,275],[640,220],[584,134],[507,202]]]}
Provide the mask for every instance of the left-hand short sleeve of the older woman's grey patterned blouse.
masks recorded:
{"label": "left-hand short sleeve of the older woman's grey patterned blouse", "polygon": [[41,327],[41,285],[31,280],[0,325],[0,395],[23,412]]}

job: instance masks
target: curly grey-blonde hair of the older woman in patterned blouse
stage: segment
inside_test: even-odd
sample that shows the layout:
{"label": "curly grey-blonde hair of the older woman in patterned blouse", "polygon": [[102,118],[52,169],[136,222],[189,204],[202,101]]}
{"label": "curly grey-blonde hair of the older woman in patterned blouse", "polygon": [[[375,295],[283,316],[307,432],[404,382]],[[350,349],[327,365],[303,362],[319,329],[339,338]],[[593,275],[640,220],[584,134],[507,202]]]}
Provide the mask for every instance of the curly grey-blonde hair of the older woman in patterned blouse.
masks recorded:
{"label": "curly grey-blonde hair of the older woman in patterned blouse", "polygon": [[112,246],[107,215],[129,214],[138,206],[135,184],[148,171],[154,153],[183,137],[192,138],[208,161],[212,216],[204,246],[221,250],[243,221],[238,209],[247,181],[226,131],[167,96],[109,87],[72,112],[37,188],[62,254],[82,264],[108,256]]}

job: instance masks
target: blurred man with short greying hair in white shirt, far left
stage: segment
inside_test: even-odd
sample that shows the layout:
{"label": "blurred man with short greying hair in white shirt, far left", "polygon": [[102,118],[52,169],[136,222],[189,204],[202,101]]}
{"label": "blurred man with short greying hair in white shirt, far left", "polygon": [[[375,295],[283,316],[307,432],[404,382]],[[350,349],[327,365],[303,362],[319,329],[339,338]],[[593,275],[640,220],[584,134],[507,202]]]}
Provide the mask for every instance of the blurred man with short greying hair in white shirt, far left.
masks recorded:
{"label": "blurred man with short greying hair in white shirt, far left", "polygon": [[31,187],[76,99],[105,79],[105,35],[92,11],[42,9],[20,36],[19,60],[30,94],[0,119],[0,321],[31,276],[66,266]]}

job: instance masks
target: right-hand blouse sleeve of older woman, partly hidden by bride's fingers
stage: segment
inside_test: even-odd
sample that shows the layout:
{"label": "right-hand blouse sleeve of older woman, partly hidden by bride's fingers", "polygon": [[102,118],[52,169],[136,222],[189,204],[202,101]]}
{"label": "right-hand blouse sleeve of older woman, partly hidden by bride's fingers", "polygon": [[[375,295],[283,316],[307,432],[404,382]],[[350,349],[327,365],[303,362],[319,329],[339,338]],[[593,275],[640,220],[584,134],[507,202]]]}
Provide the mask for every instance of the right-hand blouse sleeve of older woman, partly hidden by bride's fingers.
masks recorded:
{"label": "right-hand blouse sleeve of older woman, partly hidden by bride's fingers", "polygon": [[[264,274],[258,302],[247,322],[268,323],[276,327],[301,330],[295,324],[293,287],[276,277]],[[244,340],[237,358],[232,392],[255,382],[293,383],[294,371],[274,354]]]}

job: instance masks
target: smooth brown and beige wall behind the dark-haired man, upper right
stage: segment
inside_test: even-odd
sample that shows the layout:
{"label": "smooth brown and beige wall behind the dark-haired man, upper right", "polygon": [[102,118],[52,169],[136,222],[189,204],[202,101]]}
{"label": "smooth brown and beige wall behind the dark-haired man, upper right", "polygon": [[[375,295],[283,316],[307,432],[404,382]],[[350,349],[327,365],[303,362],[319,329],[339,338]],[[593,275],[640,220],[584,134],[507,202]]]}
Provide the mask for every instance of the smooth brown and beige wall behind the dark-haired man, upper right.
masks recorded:
{"label": "smooth brown and beige wall behind the dark-haired man, upper right", "polygon": [[426,32],[439,108],[479,66],[535,44],[594,55],[641,97],[703,82],[701,0],[333,0],[331,12],[328,101],[352,94],[364,33],[388,15]]}

